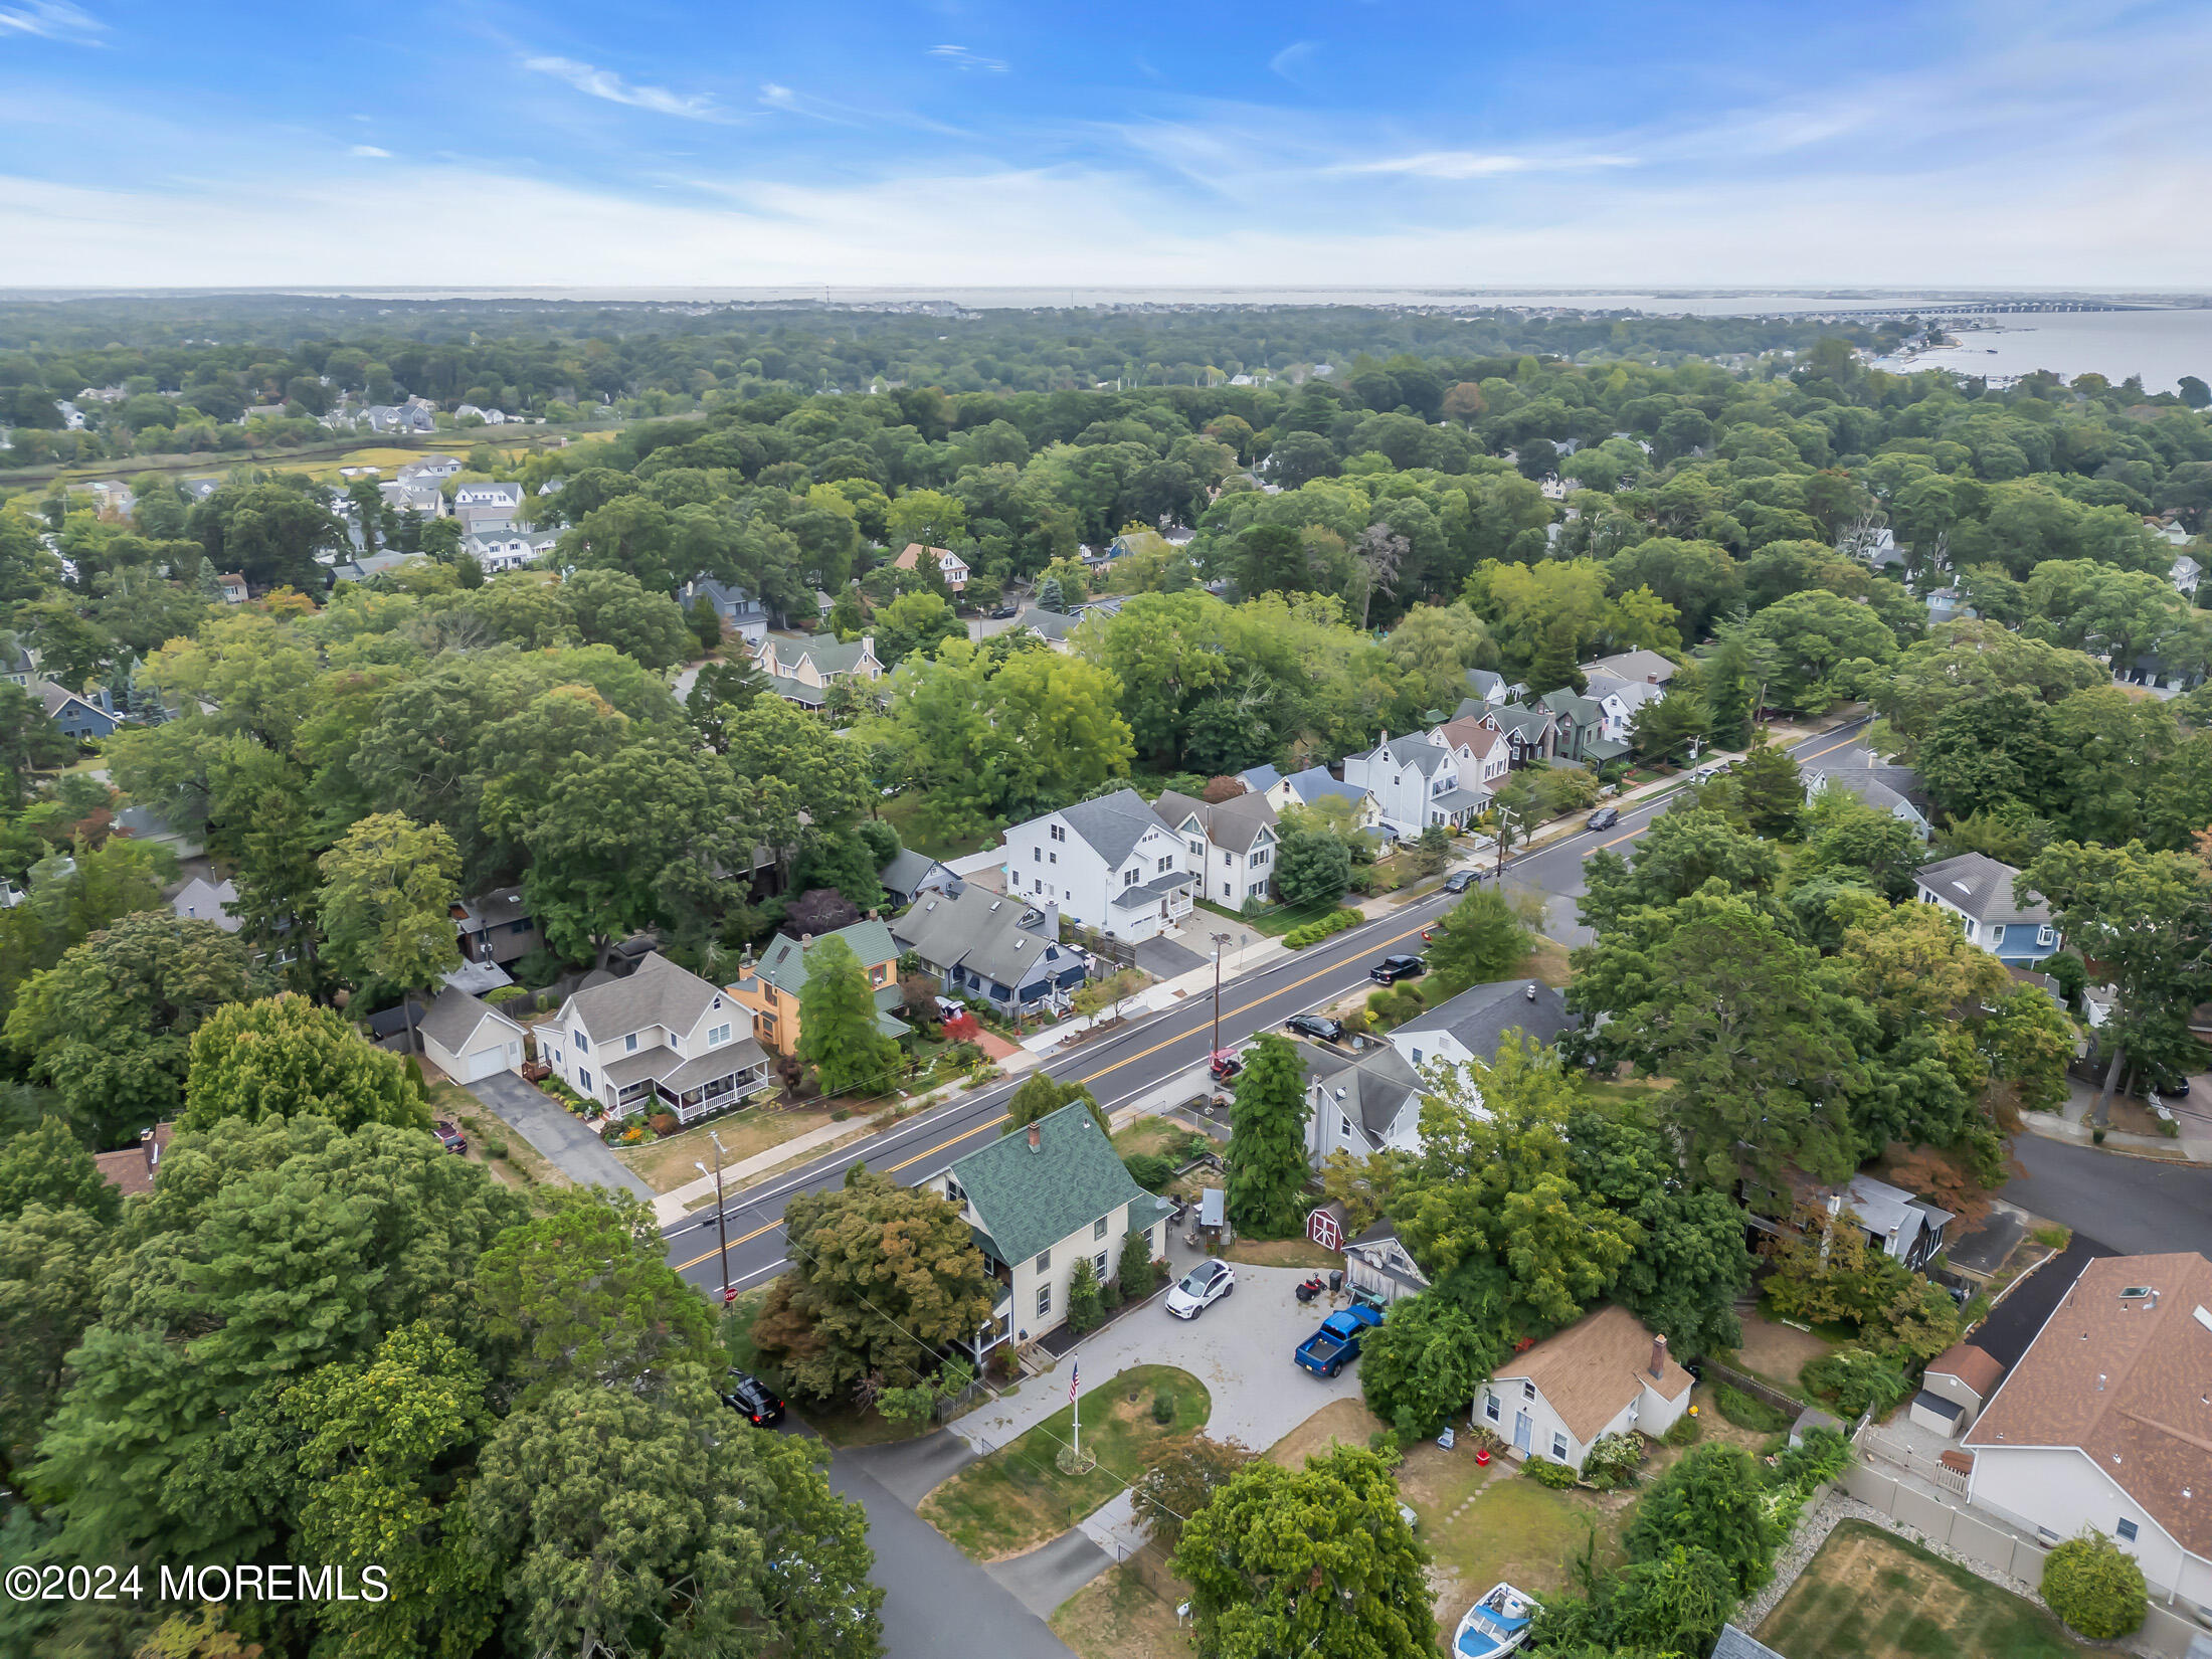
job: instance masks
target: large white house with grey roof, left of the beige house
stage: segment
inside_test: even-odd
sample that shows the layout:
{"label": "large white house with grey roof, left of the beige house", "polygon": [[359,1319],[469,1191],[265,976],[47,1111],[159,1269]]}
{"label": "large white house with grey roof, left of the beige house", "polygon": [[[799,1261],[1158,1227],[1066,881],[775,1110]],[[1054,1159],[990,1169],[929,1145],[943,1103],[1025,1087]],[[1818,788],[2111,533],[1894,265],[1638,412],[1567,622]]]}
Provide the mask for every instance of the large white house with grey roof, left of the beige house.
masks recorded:
{"label": "large white house with grey roof, left of the beige house", "polygon": [[1186,845],[1135,790],[1115,790],[1004,834],[1006,894],[1055,902],[1097,933],[1159,938],[1190,916]]}

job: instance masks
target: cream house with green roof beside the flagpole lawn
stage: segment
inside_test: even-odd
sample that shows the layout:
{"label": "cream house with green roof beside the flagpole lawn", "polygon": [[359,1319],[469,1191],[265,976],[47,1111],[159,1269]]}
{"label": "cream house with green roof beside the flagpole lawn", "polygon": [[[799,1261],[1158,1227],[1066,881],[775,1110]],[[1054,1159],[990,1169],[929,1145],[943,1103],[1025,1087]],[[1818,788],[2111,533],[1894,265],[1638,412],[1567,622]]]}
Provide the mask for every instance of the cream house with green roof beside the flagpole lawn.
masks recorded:
{"label": "cream house with green roof beside the flagpole lawn", "polygon": [[1121,1272],[1133,1241],[1155,1259],[1168,1250],[1166,1199],[1130,1179],[1084,1102],[1002,1135],[920,1186],[960,1206],[1000,1283],[1000,1303],[975,1338],[978,1360],[1004,1340],[1026,1345],[1064,1325],[1077,1261],[1104,1283]]}

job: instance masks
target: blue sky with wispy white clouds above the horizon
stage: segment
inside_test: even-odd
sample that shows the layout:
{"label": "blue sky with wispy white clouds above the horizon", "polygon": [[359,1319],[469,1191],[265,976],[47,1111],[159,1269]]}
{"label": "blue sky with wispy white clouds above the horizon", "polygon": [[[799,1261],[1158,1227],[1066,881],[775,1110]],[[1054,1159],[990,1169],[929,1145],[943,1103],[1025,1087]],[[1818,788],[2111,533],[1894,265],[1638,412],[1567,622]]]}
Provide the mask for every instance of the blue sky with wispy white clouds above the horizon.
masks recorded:
{"label": "blue sky with wispy white clouds above the horizon", "polygon": [[2201,0],[0,0],[4,285],[2212,285]]}

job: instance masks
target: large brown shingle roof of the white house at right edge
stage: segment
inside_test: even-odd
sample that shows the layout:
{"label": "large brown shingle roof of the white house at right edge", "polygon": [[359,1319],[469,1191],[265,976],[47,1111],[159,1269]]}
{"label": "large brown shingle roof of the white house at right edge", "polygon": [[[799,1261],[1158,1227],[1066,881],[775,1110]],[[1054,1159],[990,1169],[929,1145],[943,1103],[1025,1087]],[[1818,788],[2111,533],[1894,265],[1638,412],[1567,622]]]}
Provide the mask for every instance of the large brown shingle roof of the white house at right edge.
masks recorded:
{"label": "large brown shingle roof of the white house at right edge", "polygon": [[2077,1447],[2183,1548],[2212,1555],[2212,1261],[2088,1263],[1966,1444]]}

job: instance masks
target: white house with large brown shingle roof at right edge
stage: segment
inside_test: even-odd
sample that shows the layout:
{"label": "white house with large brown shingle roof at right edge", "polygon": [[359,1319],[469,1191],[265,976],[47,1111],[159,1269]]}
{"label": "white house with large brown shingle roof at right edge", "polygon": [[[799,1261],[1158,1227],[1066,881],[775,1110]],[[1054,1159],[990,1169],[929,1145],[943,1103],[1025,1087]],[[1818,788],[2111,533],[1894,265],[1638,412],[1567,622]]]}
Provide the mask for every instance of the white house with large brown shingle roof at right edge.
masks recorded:
{"label": "white house with large brown shingle roof at right edge", "polygon": [[2194,1252],[2090,1261],[1966,1431],[1966,1502],[2044,1544],[2095,1526],[2135,1555],[2152,1599],[2205,1617],[2208,1380],[2212,1263]]}

